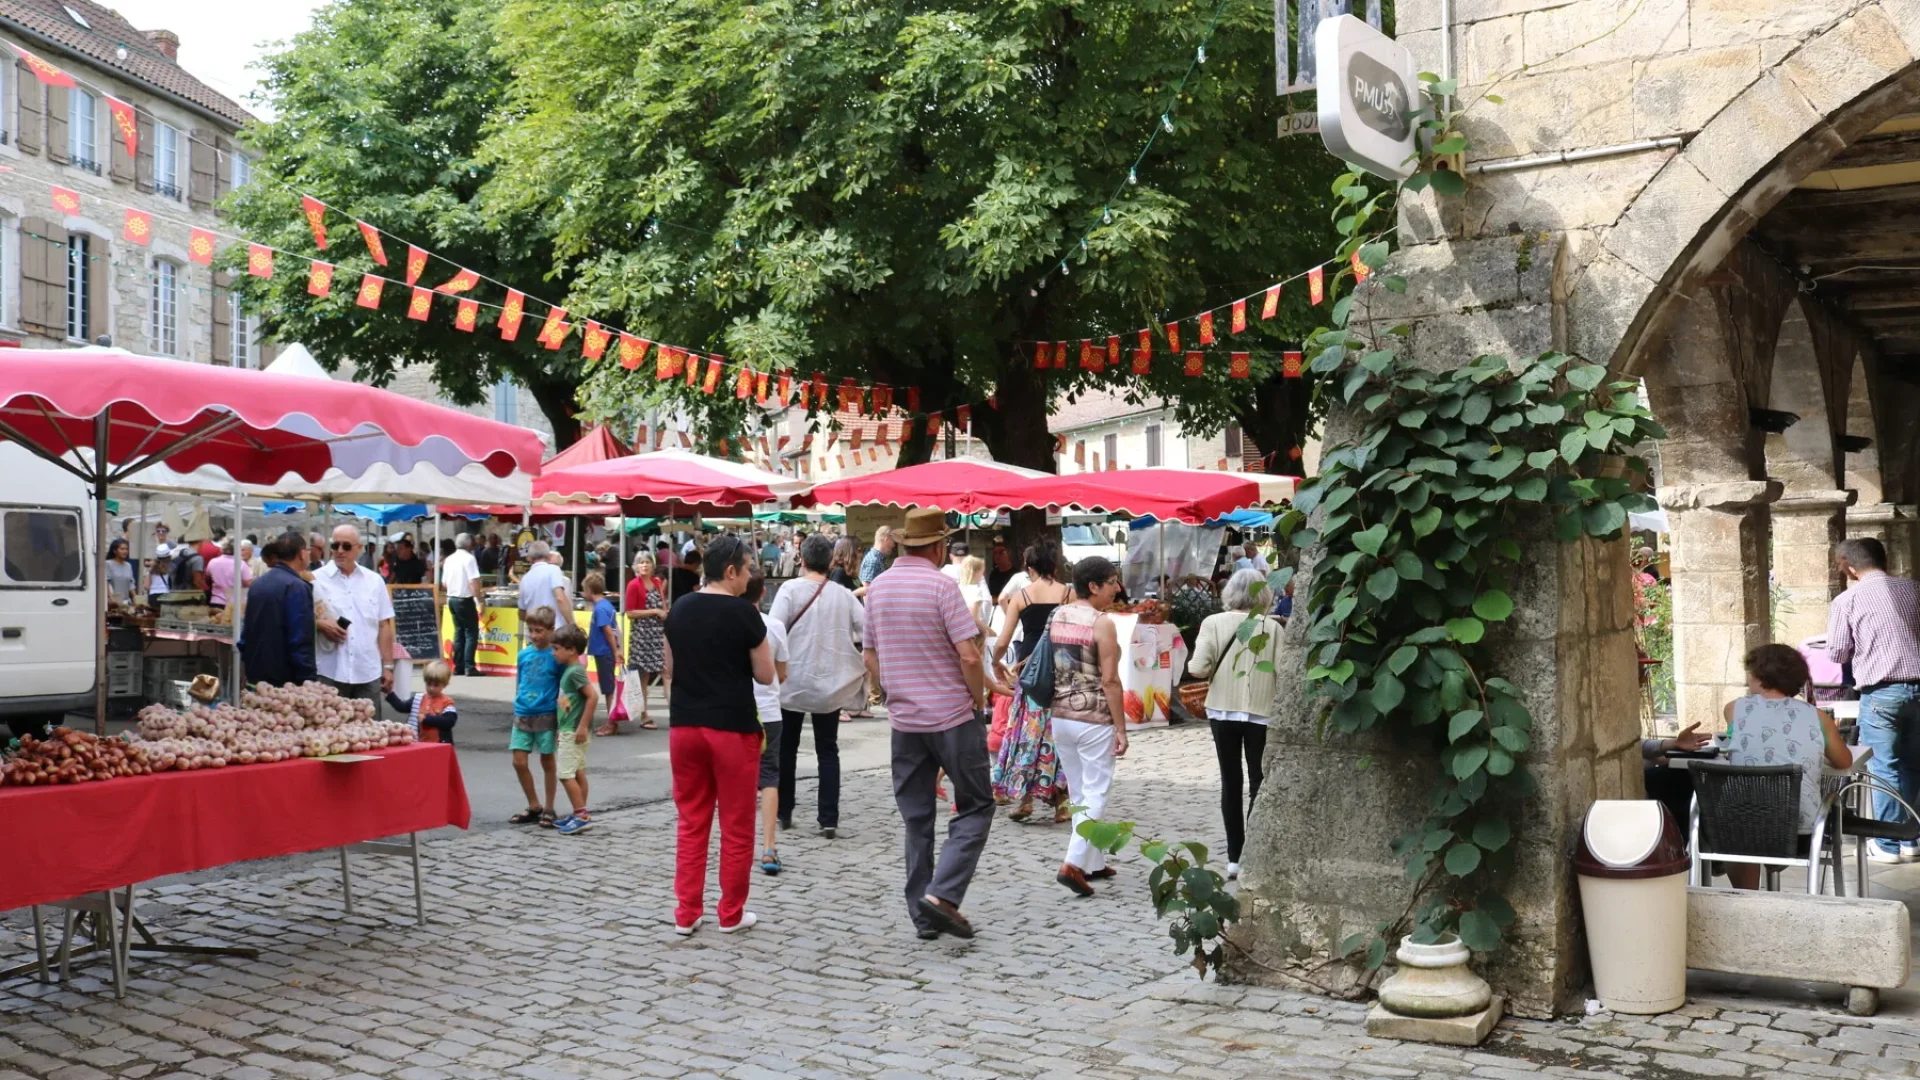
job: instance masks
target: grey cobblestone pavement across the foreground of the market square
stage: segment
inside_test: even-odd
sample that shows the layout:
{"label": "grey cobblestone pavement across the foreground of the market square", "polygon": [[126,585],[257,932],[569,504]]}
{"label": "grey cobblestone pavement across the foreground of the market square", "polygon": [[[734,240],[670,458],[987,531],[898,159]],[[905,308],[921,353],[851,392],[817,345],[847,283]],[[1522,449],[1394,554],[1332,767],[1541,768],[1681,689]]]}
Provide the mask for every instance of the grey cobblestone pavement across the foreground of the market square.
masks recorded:
{"label": "grey cobblestone pavement across the foreground of the market square", "polygon": [[[1215,836],[1206,730],[1135,740],[1116,817]],[[810,790],[803,788],[803,799]],[[1920,1026],[1699,999],[1649,1020],[1509,1020],[1480,1051],[1367,1038],[1361,1007],[1200,984],[1146,905],[1137,857],[1094,899],[1052,882],[1064,828],[995,824],[966,911],[972,944],[918,942],[879,773],[847,778],[845,830],[787,834],[755,876],[749,934],[670,928],[672,807],[595,832],[440,834],[432,926],[405,863],[361,859],[359,917],[330,863],[157,890],[175,940],[257,961],[136,957],[125,1003],[86,969],[0,988],[0,1080],[19,1076],[1912,1076]],[[804,807],[803,813],[804,815]],[[376,907],[384,905],[378,913]],[[0,949],[17,955],[17,926]]]}

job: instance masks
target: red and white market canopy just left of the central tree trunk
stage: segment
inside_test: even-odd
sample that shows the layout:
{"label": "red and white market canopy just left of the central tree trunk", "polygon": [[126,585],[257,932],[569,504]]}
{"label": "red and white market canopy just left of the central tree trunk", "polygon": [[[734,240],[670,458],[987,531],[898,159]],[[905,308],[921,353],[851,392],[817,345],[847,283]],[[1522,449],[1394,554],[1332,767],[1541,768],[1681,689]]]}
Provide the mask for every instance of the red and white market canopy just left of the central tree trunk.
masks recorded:
{"label": "red and white market canopy just left of the central tree trunk", "polygon": [[[687,450],[655,450],[612,461],[541,473],[534,500],[597,503],[614,500],[632,517],[751,513],[806,490],[804,480]],[[549,505],[547,509],[559,509]]]}

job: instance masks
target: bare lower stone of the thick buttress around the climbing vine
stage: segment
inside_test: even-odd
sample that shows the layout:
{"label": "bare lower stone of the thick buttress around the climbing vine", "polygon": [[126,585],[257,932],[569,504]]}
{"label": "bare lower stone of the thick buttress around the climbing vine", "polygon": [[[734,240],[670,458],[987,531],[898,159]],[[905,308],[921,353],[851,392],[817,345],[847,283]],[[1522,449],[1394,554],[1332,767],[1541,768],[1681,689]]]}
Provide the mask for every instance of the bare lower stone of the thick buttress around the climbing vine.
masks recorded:
{"label": "bare lower stone of the thick buttress around the climbing vine", "polygon": [[[1519,919],[1480,974],[1511,1013],[1551,1017],[1578,1009],[1586,984],[1571,863],[1580,821],[1596,798],[1642,796],[1634,603],[1624,542],[1557,544],[1544,523],[1515,540],[1513,596],[1526,600],[1488,638],[1490,675],[1513,680],[1534,715],[1523,759],[1540,790],[1517,815],[1515,869],[1500,884]],[[1302,686],[1306,632],[1296,619],[1283,634],[1267,780],[1248,824],[1233,930],[1246,957],[1229,961],[1246,982],[1284,984],[1286,969],[1405,911],[1413,884],[1388,844],[1425,817],[1438,773],[1425,738],[1321,734]]]}

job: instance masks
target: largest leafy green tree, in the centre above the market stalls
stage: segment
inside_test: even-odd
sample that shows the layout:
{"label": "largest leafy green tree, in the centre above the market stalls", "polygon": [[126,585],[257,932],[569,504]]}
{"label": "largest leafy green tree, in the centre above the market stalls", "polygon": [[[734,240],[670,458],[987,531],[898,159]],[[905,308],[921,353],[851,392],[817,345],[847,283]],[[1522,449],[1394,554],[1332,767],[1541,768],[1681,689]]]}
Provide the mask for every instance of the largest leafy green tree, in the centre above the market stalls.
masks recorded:
{"label": "largest leafy green tree, in the centre above the market stalls", "polygon": [[1304,288],[1235,338],[1248,380],[1225,344],[1202,379],[1164,340],[1144,379],[1043,375],[1023,344],[1192,315],[1331,246],[1338,169],[1277,135],[1267,0],[509,0],[495,35],[486,202],[551,231],[574,309],[924,407],[995,396],[975,429],[1043,469],[1048,404],[1096,382],[1298,440],[1306,394],[1273,375]]}

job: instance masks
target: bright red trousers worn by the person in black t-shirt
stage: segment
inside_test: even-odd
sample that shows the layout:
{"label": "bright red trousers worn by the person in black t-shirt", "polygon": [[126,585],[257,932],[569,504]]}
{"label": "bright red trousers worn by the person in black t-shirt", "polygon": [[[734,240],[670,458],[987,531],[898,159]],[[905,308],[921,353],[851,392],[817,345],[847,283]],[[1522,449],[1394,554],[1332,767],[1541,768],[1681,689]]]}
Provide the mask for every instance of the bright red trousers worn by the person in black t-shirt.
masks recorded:
{"label": "bright red trousers worn by the person in black t-shirt", "polygon": [[753,821],[760,801],[760,732],[666,732],[680,842],[674,853],[674,924],[707,913],[707,842],[720,811],[720,924],[739,922],[753,882]]}

